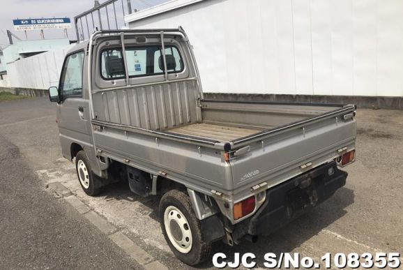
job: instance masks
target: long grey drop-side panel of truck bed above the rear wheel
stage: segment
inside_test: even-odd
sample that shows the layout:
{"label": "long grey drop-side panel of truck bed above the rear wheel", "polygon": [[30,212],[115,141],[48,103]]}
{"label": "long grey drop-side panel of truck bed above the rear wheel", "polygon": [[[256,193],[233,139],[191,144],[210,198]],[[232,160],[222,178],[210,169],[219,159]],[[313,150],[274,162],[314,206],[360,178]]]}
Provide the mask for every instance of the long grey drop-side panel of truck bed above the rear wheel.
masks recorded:
{"label": "long grey drop-side panel of truck bed above the rear wheel", "polygon": [[211,189],[231,193],[231,168],[220,151],[169,137],[153,137],[107,126],[94,130],[102,155],[168,179],[202,193]]}

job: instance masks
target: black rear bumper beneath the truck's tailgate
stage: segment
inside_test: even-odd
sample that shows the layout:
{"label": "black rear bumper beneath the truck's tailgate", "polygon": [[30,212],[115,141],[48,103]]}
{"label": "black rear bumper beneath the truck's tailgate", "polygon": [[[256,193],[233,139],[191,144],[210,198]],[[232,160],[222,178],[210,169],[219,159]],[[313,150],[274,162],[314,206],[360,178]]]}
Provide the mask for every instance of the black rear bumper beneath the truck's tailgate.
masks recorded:
{"label": "black rear bumper beneath the truck's tailgate", "polygon": [[233,238],[270,234],[327,200],[346,184],[347,172],[335,162],[321,165],[266,191],[266,202],[251,218],[234,227]]}

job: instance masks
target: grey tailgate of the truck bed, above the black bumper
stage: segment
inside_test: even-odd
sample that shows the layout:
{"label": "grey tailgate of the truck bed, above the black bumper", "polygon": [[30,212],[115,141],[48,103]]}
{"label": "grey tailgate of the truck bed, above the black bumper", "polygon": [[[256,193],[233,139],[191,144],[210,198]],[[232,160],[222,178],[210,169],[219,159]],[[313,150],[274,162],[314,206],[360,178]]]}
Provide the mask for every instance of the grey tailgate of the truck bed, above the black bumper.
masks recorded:
{"label": "grey tailgate of the truck bed, above the black bumper", "polygon": [[355,107],[351,105],[271,130],[267,134],[240,140],[239,144],[250,147],[250,150],[239,151],[238,156],[234,152],[230,160],[235,197],[250,194],[252,187],[261,183],[262,188],[276,186],[333,160],[340,156],[339,149],[354,149],[354,110]]}

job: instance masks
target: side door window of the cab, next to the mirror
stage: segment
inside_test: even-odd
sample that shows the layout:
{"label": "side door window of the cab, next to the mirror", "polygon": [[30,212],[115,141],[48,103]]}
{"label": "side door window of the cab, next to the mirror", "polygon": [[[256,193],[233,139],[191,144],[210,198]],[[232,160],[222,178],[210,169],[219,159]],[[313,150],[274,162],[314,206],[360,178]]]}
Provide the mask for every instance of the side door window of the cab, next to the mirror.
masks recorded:
{"label": "side door window of the cab, next to the mirror", "polygon": [[84,52],[70,54],[61,70],[60,91],[63,98],[82,96]]}

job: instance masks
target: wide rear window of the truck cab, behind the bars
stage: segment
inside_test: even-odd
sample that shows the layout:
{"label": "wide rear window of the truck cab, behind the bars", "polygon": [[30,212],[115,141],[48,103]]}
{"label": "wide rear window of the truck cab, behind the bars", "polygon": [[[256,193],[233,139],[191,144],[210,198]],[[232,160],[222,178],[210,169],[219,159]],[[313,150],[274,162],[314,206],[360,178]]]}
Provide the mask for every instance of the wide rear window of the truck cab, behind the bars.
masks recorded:
{"label": "wide rear window of the truck cab, behind the bars", "polygon": [[[178,48],[165,46],[167,72],[183,71],[183,60]],[[142,77],[164,74],[162,47],[159,45],[146,47],[127,47],[126,61],[129,77]],[[126,77],[121,48],[102,50],[100,61],[101,77],[104,80],[116,80]]]}

